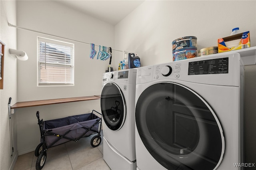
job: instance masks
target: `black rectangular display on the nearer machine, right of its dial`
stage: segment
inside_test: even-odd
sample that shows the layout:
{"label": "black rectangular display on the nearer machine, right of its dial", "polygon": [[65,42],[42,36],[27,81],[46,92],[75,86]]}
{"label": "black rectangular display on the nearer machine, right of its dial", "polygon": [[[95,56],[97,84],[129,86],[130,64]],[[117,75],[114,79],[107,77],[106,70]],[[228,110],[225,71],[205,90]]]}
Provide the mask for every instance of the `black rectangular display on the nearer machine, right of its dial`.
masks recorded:
{"label": "black rectangular display on the nearer machine, right of its dial", "polygon": [[188,75],[228,73],[228,57],[188,63]]}

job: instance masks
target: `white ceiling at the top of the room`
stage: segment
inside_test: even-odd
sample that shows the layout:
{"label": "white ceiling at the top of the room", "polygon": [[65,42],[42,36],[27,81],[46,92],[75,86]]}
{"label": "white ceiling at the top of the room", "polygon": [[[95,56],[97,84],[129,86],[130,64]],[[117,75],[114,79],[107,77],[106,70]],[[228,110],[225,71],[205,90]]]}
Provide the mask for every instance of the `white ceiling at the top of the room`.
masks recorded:
{"label": "white ceiling at the top of the room", "polygon": [[57,2],[116,25],[144,0],[58,0]]}

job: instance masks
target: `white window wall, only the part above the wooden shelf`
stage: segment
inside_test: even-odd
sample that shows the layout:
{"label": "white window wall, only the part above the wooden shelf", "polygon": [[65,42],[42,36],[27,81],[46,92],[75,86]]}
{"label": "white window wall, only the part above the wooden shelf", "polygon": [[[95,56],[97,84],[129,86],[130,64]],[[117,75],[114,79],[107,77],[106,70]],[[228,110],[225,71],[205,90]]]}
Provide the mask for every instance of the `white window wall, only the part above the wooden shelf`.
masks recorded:
{"label": "white window wall, only the part above the wooden shelf", "polygon": [[[20,27],[96,45],[114,45],[114,26],[63,6],[58,1],[18,1],[17,16]],[[18,30],[17,35],[18,49],[24,50],[29,57],[27,61],[18,61],[18,101],[100,94],[101,77],[108,61],[100,61],[96,57],[90,59],[90,45],[68,41],[75,44],[74,86],[37,87],[37,36],[62,39],[26,30]],[[98,47],[95,49],[98,51]]]}

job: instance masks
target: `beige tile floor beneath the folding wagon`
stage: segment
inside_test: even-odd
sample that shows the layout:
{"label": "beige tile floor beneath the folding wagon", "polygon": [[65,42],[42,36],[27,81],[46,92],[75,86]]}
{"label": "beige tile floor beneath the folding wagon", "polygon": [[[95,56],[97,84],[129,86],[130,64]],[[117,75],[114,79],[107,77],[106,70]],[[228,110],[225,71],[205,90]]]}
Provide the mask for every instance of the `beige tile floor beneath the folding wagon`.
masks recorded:
{"label": "beige tile floor beneath the folding wagon", "polygon": [[[49,148],[42,170],[110,170],[103,160],[103,135],[100,145],[96,148],[90,144],[93,136]],[[36,170],[36,160],[34,152],[20,155],[14,170]]]}

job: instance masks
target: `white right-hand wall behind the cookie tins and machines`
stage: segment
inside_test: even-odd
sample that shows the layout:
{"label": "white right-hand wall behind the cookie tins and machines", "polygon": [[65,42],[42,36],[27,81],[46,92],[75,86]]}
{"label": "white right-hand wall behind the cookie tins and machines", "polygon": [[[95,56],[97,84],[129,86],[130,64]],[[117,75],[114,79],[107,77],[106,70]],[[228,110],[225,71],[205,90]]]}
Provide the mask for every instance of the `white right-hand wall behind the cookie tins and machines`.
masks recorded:
{"label": "white right-hand wall behind the cookie tins and machines", "polygon": [[[172,61],[172,41],[196,36],[197,47],[217,46],[232,29],[250,31],[256,46],[256,1],[145,1],[115,26],[115,47],[138,53],[142,66]],[[117,67],[118,61],[115,62]],[[246,162],[256,162],[256,65],[245,71]]]}

